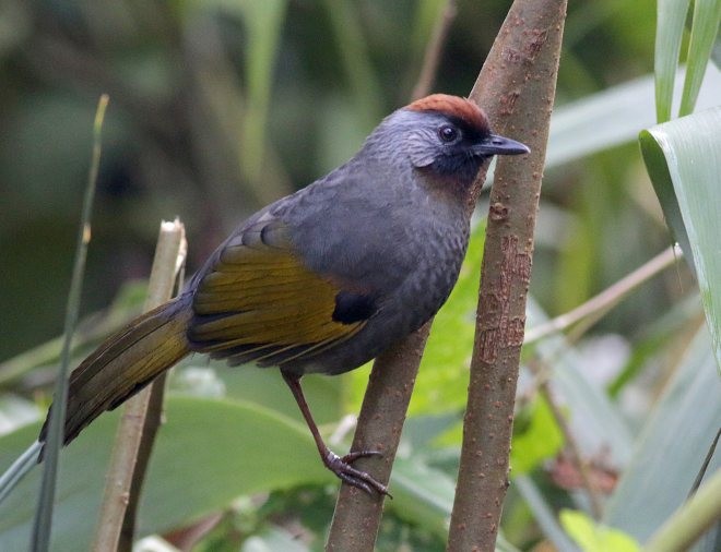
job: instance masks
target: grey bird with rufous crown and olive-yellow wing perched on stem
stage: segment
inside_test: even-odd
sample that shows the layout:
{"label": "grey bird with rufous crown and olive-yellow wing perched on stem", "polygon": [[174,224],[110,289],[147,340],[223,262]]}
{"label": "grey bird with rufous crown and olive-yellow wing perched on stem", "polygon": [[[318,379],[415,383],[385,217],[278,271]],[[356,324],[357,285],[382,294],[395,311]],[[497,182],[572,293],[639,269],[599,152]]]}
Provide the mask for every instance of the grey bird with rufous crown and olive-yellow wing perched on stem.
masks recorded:
{"label": "grey bird with rufous crown and olive-yellow wing perched on stem", "polygon": [[[72,371],[63,444],[191,353],[276,367],[322,463],[368,493],[385,484],[341,457],[300,379],[373,360],[440,309],[470,235],[470,191],[494,155],[527,154],[446,94],[386,117],[347,163],[241,223],[169,302],[109,336]],[[47,420],[38,439],[47,437]]]}

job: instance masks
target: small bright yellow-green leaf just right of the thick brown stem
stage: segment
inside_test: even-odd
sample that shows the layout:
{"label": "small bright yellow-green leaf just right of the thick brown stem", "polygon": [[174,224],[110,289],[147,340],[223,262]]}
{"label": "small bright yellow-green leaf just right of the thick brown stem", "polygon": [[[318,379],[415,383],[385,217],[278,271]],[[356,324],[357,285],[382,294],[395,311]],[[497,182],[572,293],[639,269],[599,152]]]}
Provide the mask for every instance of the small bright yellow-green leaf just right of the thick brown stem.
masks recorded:
{"label": "small bright yellow-green leaf just right of the thick brown stem", "polygon": [[[523,423],[522,420],[527,420]],[[555,456],[564,444],[564,436],[551,412],[548,403],[537,397],[519,412],[513,424],[511,475],[528,473],[544,460]]]}

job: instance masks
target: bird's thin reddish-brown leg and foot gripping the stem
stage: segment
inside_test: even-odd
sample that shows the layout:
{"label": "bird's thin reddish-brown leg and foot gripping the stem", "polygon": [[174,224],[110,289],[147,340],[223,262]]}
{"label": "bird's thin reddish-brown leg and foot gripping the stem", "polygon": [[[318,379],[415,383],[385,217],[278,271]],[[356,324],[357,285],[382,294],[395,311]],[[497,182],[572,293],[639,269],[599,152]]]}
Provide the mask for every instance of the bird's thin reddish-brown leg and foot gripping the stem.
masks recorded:
{"label": "bird's thin reddish-brown leg and foot gripping the stem", "polygon": [[312,439],[316,441],[316,446],[320,453],[320,459],[326,467],[346,483],[363,489],[369,494],[373,494],[373,491],[376,491],[379,494],[389,494],[388,488],[385,484],[375,480],[365,471],[361,471],[352,466],[352,464],[358,458],[364,458],[366,456],[380,456],[381,453],[378,451],[357,451],[348,453],[343,457],[333,453],[328,446],[326,446],[323,437],[320,436],[320,431],[318,431],[318,425],[316,425],[316,422],[312,419],[308,403],[306,403],[306,398],[303,395],[303,388],[300,387],[300,376],[283,371],[281,371],[281,373],[283,374],[285,383],[291,388],[291,393],[293,393],[295,401],[298,404],[298,408],[300,408],[300,412],[308,424],[310,433],[312,433]]}

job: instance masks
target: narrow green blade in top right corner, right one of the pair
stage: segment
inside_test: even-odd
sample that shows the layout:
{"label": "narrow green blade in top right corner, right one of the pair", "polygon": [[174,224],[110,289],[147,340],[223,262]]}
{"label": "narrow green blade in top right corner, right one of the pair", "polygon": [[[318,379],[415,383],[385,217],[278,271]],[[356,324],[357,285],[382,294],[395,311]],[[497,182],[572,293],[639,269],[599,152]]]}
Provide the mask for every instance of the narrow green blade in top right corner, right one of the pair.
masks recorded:
{"label": "narrow green blade in top right corner, right one of the pair", "polygon": [[704,74],[709,64],[713,40],[719,33],[721,20],[721,0],[696,0],[694,2],[694,23],[688,43],[688,71],[684,82],[684,95],[681,98],[678,116],[694,111],[698,91],[704,82]]}

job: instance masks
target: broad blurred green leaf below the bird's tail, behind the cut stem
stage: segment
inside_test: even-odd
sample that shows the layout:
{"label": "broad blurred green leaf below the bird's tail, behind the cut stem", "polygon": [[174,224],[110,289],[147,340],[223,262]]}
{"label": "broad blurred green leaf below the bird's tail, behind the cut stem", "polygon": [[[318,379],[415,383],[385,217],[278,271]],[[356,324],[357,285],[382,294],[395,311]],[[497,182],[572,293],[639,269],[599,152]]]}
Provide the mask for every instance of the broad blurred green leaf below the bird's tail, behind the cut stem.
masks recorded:
{"label": "broad blurred green leaf below the bird's tail, behind the cut stem", "polygon": [[[333,483],[308,430],[247,403],[168,397],[140,509],[139,536],[163,532],[248,493]],[[104,415],[62,454],[54,550],[86,550],[103,496],[117,415]],[[0,437],[0,469],[37,435],[32,424]],[[0,505],[0,550],[26,550],[39,469]]]}

